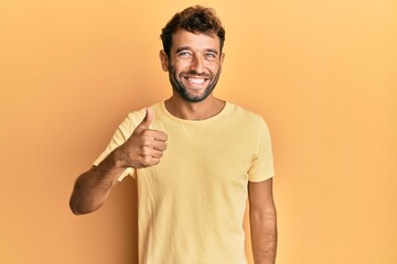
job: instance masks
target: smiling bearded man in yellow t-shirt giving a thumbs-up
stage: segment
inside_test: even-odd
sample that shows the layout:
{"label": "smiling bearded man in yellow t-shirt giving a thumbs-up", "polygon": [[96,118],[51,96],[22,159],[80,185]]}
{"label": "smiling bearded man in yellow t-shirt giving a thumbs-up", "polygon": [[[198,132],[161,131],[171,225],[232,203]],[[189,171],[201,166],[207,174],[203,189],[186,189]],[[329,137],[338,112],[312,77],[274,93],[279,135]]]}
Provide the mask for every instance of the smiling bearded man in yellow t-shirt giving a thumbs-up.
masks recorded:
{"label": "smiling bearded man in yellow t-shirt giving a thumbs-up", "polygon": [[76,183],[74,213],[103,206],[137,177],[139,262],[242,264],[247,195],[256,264],[275,263],[272,154],[265,121],[215,98],[225,31],[212,9],[192,7],[162,30],[160,61],[172,96],[128,114]]}

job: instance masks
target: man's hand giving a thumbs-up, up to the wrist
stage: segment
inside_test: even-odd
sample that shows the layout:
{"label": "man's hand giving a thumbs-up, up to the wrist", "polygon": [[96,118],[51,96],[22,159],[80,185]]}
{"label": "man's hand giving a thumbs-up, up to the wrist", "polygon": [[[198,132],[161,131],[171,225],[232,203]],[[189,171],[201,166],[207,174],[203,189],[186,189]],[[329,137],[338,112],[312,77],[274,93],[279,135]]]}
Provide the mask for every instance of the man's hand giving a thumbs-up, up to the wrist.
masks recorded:
{"label": "man's hand giving a thumbs-up, up to the wrist", "polygon": [[121,166],[142,168],[160,163],[167,148],[167,134],[162,131],[149,129],[153,121],[153,112],[147,108],[146,117],[135,129],[131,136],[119,146],[118,156]]}

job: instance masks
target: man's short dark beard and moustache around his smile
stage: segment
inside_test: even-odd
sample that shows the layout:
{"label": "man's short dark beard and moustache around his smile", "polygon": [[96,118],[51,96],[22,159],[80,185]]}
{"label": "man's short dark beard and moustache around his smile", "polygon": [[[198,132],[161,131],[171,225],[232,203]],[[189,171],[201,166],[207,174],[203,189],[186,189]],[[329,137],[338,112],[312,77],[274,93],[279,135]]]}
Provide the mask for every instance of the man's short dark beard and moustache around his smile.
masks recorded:
{"label": "man's short dark beard and moustache around his smile", "polygon": [[[192,95],[189,92],[187,88],[182,84],[180,78],[176,76],[176,70],[173,66],[169,67],[169,78],[170,78],[171,86],[184,100],[186,100],[189,102],[201,102],[201,101],[205,100],[211,95],[211,92],[215,89],[215,86],[219,79],[221,68],[216,72],[216,75],[214,77],[211,75],[207,75],[207,74],[197,74],[194,70],[191,70],[187,74],[194,75],[194,76],[200,76],[200,77],[205,77],[205,78],[210,79],[210,84],[207,85],[207,87],[205,87],[204,91],[201,95]],[[213,78],[211,78],[211,77],[213,77]]]}

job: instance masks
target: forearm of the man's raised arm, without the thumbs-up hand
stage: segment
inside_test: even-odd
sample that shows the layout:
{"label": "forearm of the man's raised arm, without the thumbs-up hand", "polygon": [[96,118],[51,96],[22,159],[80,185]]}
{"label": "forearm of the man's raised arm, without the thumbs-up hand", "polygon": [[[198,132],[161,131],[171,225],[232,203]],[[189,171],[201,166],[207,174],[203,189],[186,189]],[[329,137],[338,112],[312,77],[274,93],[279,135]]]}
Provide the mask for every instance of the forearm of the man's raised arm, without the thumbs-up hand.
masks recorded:
{"label": "forearm of the man's raised arm, without the thumbs-up hand", "polygon": [[115,153],[106,157],[98,166],[82,174],[74,185],[69,206],[75,215],[88,213],[100,208],[107,200],[110,189],[118,183],[124,172]]}

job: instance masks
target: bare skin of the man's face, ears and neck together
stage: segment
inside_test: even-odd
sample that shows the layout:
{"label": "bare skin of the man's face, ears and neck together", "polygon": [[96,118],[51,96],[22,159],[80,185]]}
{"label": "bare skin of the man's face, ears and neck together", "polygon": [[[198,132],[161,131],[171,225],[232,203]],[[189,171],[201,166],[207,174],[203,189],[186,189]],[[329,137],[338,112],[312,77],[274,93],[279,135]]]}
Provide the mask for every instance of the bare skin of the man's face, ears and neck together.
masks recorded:
{"label": "bare skin of the man's face, ears and neck together", "polygon": [[[172,41],[170,57],[160,51],[161,67],[169,72],[173,87],[172,97],[165,100],[167,109],[173,116],[187,120],[216,116],[225,107],[225,101],[215,98],[212,92],[225,57],[221,53],[218,37],[181,30]],[[195,84],[189,79],[203,82]]]}

